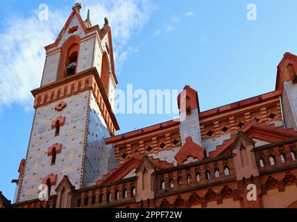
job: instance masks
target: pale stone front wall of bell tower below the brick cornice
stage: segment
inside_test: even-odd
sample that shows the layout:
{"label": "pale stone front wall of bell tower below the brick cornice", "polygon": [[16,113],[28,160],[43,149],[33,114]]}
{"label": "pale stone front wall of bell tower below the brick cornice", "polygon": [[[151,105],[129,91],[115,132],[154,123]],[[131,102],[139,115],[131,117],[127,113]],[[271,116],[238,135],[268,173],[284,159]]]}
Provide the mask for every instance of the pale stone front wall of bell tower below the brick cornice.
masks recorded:
{"label": "pale stone front wall of bell tower below the brick cornice", "polygon": [[[80,188],[89,94],[90,91],[85,91],[65,98],[63,101],[67,103],[67,108],[60,112],[55,110],[58,102],[44,105],[35,111],[18,202],[37,198],[42,178],[51,173],[57,174],[57,185],[67,175],[76,189]],[[59,135],[55,137],[51,121],[57,116],[66,117],[66,120],[65,125],[60,127]],[[56,156],[56,164],[51,166],[51,157],[48,157],[47,152],[55,143],[62,144],[62,151]],[[52,187],[51,194],[54,194],[55,188]]]}

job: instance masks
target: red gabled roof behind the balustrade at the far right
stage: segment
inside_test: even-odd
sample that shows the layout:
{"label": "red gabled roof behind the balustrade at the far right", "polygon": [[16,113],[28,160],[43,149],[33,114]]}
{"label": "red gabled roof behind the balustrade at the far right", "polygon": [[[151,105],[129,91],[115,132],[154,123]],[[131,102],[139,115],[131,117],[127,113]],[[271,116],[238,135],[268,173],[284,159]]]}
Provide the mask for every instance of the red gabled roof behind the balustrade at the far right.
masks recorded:
{"label": "red gabled roof behind the balustrade at the far right", "polygon": [[[294,128],[285,129],[283,126],[275,127],[274,124],[267,125],[267,123],[257,123],[257,121],[246,123],[246,127],[241,131],[241,133],[244,133],[251,139],[262,139],[271,143],[297,137],[297,132]],[[230,139],[226,139],[222,145],[217,146],[216,151],[210,152],[210,157],[230,153],[237,135],[238,133],[231,135]]]}

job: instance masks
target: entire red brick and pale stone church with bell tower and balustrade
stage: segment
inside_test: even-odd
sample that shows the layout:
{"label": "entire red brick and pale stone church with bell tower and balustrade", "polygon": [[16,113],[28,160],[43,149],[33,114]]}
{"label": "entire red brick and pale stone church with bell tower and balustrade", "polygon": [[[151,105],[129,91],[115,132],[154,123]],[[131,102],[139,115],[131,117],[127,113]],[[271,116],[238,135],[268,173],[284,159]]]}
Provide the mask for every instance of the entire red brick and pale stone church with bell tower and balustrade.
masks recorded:
{"label": "entire red brick and pale stone church with bell tower and balustrade", "polygon": [[187,85],[185,119],[115,135],[111,29],[80,8],[45,47],[15,200],[0,192],[0,207],[297,207],[297,56],[273,92],[201,112]]}

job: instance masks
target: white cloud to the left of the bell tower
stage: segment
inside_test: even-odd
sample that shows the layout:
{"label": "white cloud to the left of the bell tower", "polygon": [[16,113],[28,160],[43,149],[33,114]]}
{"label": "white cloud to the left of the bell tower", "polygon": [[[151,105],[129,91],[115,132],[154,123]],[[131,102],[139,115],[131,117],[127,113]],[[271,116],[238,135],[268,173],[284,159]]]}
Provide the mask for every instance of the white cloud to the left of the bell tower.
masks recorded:
{"label": "white cloud to the left of the bell tower", "polygon": [[0,105],[26,106],[31,101],[30,90],[40,85],[44,46],[56,39],[62,20],[65,17],[56,11],[50,12],[49,21],[40,21],[35,11],[27,19],[12,16],[5,21],[0,33]]}

